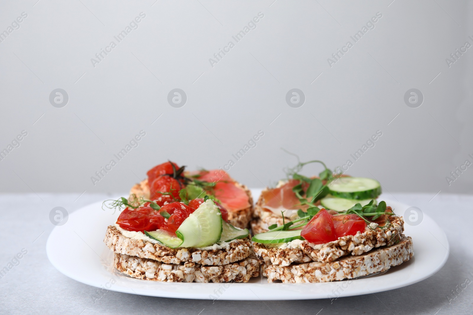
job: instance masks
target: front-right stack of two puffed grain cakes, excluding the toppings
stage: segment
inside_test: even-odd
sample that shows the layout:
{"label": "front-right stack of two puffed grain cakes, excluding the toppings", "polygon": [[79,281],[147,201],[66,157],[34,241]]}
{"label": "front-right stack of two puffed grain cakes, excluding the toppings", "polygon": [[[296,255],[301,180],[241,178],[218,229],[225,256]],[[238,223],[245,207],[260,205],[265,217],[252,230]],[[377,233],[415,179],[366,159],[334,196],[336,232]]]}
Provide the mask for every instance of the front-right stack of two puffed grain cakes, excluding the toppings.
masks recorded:
{"label": "front-right stack of two puffed grain cakes, excluding the toppings", "polygon": [[327,282],[353,279],[402,264],[414,255],[412,239],[403,235],[403,218],[389,217],[381,228],[376,223],[355,235],[324,244],[293,240],[282,244],[254,243],[263,261],[268,282]]}

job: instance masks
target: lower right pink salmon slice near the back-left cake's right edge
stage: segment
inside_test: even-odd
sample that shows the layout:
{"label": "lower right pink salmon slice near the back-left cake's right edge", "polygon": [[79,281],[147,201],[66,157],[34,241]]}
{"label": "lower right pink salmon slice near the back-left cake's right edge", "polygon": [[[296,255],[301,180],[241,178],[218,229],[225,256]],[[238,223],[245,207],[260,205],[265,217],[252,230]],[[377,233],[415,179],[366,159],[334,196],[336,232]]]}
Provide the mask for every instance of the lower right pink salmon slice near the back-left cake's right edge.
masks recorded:
{"label": "lower right pink salmon slice near the back-left cake's right edge", "polygon": [[243,210],[251,206],[245,190],[233,182],[217,182],[213,187],[213,194],[228,211]]}

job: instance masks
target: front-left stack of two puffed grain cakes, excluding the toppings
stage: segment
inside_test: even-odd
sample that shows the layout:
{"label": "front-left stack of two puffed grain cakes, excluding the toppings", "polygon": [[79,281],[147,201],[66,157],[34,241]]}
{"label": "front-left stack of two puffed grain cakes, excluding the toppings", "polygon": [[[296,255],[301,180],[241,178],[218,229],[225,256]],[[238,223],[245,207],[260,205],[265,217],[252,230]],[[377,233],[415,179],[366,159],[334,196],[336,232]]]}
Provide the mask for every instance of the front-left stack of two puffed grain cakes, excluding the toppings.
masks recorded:
{"label": "front-left stack of two puffed grain cakes, excluding the toppings", "polygon": [[147,239],[125,237],[109,226],[104,242],[114,252],[114,267],[137,279],[167,282],[248,282],[260,262],[248,238],[221,246],[170,248]]}

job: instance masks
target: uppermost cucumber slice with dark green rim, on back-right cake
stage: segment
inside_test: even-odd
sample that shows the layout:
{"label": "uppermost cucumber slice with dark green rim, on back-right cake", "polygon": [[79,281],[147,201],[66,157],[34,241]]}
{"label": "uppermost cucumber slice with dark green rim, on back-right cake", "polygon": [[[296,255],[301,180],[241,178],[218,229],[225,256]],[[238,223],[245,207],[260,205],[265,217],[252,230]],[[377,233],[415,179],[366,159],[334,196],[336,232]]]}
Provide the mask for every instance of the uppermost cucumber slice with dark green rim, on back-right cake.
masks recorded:
{"label": "uppermost cucumber slice with dark green rim, on back-right cake", "polygon": [[330,194],[345,199],[375,199],[381,195],[381,185],[375,179],[341,177],[328,184]]}

